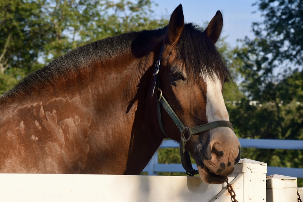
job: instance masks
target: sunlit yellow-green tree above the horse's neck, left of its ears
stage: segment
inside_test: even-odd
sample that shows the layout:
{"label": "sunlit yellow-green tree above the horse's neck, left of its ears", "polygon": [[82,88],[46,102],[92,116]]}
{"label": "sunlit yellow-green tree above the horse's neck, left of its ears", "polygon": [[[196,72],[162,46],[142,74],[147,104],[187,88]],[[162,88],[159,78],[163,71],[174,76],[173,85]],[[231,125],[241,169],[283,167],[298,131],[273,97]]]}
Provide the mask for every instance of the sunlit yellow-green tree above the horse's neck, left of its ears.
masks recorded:
{"label": "sunlit yellow-green tree above the horse's neck, left of its ears", "polygon": [[45,45],[41,56],[48,62],[98,39],[166,25],[168,20],[152,18],[152,4],[149,0],[47,1],[43,18],[53,25],[50,32],[55,40]]}

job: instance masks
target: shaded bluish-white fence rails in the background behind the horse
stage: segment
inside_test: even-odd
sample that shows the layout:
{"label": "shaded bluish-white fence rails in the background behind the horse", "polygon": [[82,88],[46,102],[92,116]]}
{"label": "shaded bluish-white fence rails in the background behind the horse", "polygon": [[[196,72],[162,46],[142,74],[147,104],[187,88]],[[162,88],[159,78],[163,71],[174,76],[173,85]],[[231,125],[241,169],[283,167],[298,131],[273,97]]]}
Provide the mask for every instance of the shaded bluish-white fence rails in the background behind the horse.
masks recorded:
{"label": "shaded bluish-white fence rails in the background behind the horse", "polygon": [[[243,139],[239,138],[241,147],[259,149],[291,149],[303,150],[303,140],[273,140],[273,139]],[[159,148],[175,148],[180,145],[172,140],[164,141]],[[193,165],[197,169],[196,165]],[[182,164],[159,164],[158,151],[143,170],[148,175],[157,175],[158,172],[185,172]],[[303,178],[303,168],[267,167],[267,175],[279,174],[297,178]]]}

